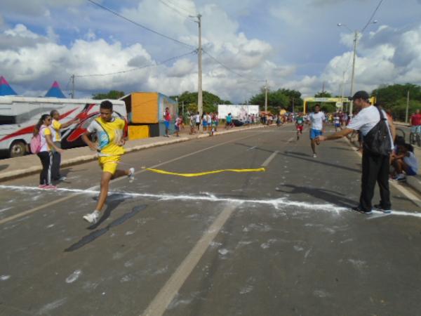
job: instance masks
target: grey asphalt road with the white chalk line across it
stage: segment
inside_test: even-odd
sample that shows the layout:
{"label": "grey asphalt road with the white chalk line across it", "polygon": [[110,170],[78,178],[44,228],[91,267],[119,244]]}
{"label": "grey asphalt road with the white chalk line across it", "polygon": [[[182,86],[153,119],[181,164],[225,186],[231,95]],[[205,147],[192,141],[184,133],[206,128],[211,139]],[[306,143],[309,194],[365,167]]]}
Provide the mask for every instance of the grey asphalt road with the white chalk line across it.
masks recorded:
{"label": "grey asphalt road with the white chalk line across it", "polygon": [[69,190],[0,183],[0,315],[420,315],[420,208],[392,188],[391,215],[350,211],[361,159],[318,150],[282,126],[127,154],[93,227],[95,162]]}

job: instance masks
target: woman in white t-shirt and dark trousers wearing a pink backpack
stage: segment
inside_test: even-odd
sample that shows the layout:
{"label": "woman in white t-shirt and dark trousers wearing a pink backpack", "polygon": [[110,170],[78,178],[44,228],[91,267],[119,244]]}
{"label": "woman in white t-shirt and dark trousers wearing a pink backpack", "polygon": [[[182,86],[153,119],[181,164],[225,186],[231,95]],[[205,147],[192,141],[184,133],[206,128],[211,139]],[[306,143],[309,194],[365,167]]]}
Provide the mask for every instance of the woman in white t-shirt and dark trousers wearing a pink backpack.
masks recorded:
{"label": "woman in white t-shirt and dark trousers wearing a pink backpack", "polygon": [[51,138],[51,115],[43,114],[34,128],[34,136],[40,136],[41,150],[37,153],[42,164],[42,171],[39,173],[39,188],[40,189],[56,189],[55,185],[51,183],[51,167],[53,165],[53,153],[51,148],[57,152],[63,150],[53,143]]}

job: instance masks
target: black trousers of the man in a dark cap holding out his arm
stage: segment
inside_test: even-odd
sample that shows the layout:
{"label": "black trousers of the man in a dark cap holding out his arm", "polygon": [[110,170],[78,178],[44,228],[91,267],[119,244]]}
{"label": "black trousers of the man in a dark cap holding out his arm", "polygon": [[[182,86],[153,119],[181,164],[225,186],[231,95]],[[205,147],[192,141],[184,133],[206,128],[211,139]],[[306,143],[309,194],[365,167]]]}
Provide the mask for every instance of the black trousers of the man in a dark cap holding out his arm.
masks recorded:
{"label": "black trousers of the man in a dark cap holding out his arm", "polygon": [[371,211],[375,183],[380,187],[380,205],[390,209],[389,156],[377,156],[363,150],[363,176],[361,178],[360,208]]}

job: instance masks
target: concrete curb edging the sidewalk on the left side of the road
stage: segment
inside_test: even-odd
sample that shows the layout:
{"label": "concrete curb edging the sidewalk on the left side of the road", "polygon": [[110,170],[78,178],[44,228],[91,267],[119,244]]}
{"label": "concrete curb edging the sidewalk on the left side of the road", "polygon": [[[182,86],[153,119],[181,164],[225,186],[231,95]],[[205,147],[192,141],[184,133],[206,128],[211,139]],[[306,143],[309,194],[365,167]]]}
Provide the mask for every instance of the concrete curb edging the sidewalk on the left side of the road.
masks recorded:
{"label": "concrete curb edging the sidewalk on the left side of the road", "polygon": [[[235,132],[240,132],[240,131],[247,131],[249,129],[259,129],[265,126],[250,126],[247,128],[243,128],[243,129],[232,129],[229,131],[220,131],[217,133],[214,133],[213,136],[219,136],[219,135],[224,135],[227,133],[235,133]],[[182,143],[182,142],[186,142],[188,140],[195,140],[195,139],[199,139],[199,138],[206,138],[206,137],[211,137],[208,133],[206,134],[201,134],[198,135],[196,137],[180,137],[180,138],[171,138],[171,140],[164,140],[164,141],[159,141],[156,143],[152,143],[152,144],[147,144],[147,145],[138,145],[138,146],[133,146],[133,147],[126,147],[126,152],[137,152],[140,150],[147,150],[149,148],[153,148],[153,147],[160,147],[160,146],[165,146],[165,145],[171,145],[171,144],[176,144],[176,143]],[[65,167],[65,166],[74,166],[76,164],[83,164],[85,162],[91,162],[95,159],[98,159],[97,154],[86,154],[80,157],[76,157],[76,158],[71,158],[71,159],[65,159],[62,161],[61,166]],[[1,181],[6,181],[6,180],[11,180],[14,178],[22,178],[24,176],[29,176],[31,174],[34,173],[39,173],[42,170],[42,166],[41,164],[37,164],[36,166],[32,166],[30,168],[27,169],[19,169],[19,170],[13,170],[13,171],[8,171],[8,172],[4,172],[0,174],[0,182]]]}

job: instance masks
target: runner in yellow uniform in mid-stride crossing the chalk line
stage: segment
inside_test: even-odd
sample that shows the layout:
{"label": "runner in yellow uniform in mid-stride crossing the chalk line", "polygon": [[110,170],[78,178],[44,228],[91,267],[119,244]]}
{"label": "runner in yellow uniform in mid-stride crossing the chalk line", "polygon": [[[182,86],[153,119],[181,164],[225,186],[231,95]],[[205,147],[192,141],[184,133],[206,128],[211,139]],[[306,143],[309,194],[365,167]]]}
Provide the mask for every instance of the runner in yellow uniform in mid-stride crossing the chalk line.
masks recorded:
{"label": "runner in yellow uniform in mid-stride crossing the chalk line", "polygon": [[[120,176],[128,176],[129,181],[134,180],[135,169],[118,170],[121,155],[124,154],[123,138],[126,121],[112,116],[112,103],[102,101],[100,105],[100,117],[94,119],[89,124],[86,133],[82,135],[83,141],[91,147],[92,150],[98,151],[98,162],[102,168],[101,192],[98,197],[98,204],[93,213],[83,216],[91,224],[98,222],[100,211],[105,204],[108,195],[109,180]],[[93,143],[89,136],[96,133],[98,144]]]}

